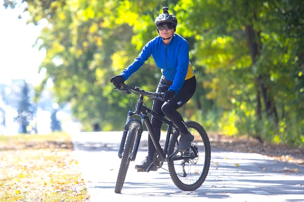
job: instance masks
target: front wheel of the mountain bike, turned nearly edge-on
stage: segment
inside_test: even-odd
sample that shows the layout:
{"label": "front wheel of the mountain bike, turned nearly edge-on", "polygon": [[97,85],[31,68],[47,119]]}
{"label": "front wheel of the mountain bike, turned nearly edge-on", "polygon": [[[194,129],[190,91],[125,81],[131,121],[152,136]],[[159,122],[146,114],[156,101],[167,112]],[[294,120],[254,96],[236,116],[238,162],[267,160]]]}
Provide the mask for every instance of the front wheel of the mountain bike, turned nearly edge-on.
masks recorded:
{"label": "front wheel of the mountain bike, turned nearly edge-on", "polygon": [[139,124],[137,122],[130,123],[129,129],[128,129],[128,134],[127,134],[127,141],[126,141],[123,153],[122,153],[120,168],[118,171],[118,176],[117,176],[117,181],[116,181],[116,186],[115,186],[115,193],[118,193],[118,194],[121,193],[122,186],[124,184],[124,181],[125,181],[125,178],[127,175],[127,171],[129,168],[129,164],[132,159],[133,148],[135,145],[138,128],[139,128]]}

